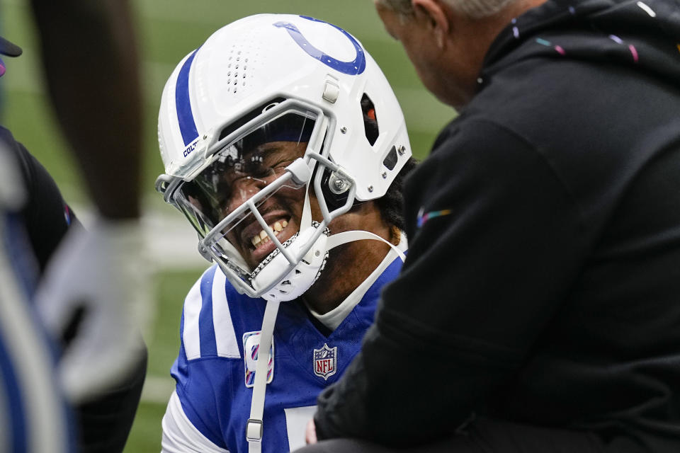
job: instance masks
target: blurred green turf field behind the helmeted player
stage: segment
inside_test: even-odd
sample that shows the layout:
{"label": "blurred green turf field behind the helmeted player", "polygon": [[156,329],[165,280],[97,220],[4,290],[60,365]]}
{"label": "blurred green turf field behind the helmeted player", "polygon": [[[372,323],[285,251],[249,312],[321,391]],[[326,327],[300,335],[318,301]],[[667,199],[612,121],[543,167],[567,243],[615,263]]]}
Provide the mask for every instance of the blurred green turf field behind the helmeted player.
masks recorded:
{"label": "blurred green turf field behind the helmeted player", "polygon": [[[426,156],[436,132],[454,116],[453,110],[425,91],[399,43],[382,28],[371,0],[131,0],[130,3],[136,13],[145,90],[144,205],[147,212],[156,216],[152,224],[158,228],[179,219],[179,214],[163,205],[153,189],[156,176],[162,173],[156,121],[163,85],[182,57],[217,28],[237,18],[266,12],[300,13],[335,23],[355,35],[380,64],[402,103],[412,148],[419,158]],[[18,59],[4,59],[7,74],[0,79],[1,123],[52,173],[67,200],[86,210],[88,199],[80,178],[72,169],[72,159],[57,130],[42,86],[28,0],[0,0],[0,34],[24,50]],[[77,46],[73,52],[77,52]],[[195,238],[188,226],[186,238],[190,242]],[[183,295],[200,275],[202,266],[199,260],[180,258],[174,259],[169,268],[167,261],[172,256],[169,258],[163,250],[176,246],[175,241],[168,241],[161,244],[155,255],[157,309],[147,333],[149,375],[125,453],[160,449],[160,419],[164,401],[172,390],[169,368],[179,345],[177,334]],[[181,262],[188,264],[181,265]]]}

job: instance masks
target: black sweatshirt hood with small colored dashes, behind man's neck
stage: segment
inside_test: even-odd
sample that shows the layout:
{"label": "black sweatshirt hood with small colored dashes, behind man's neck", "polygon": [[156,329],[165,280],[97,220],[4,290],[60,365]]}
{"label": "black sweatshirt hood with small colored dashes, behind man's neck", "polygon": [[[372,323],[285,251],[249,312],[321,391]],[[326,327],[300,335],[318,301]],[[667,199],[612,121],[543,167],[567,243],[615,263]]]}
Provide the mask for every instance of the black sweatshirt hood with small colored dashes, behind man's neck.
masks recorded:
{"label": "black sweatshirt hood with small colored dashes, behind man's neck", "polygon": [[680,1],[548,0],[502,30],[480,75],[534,57],[617,64],[680,85]]}

